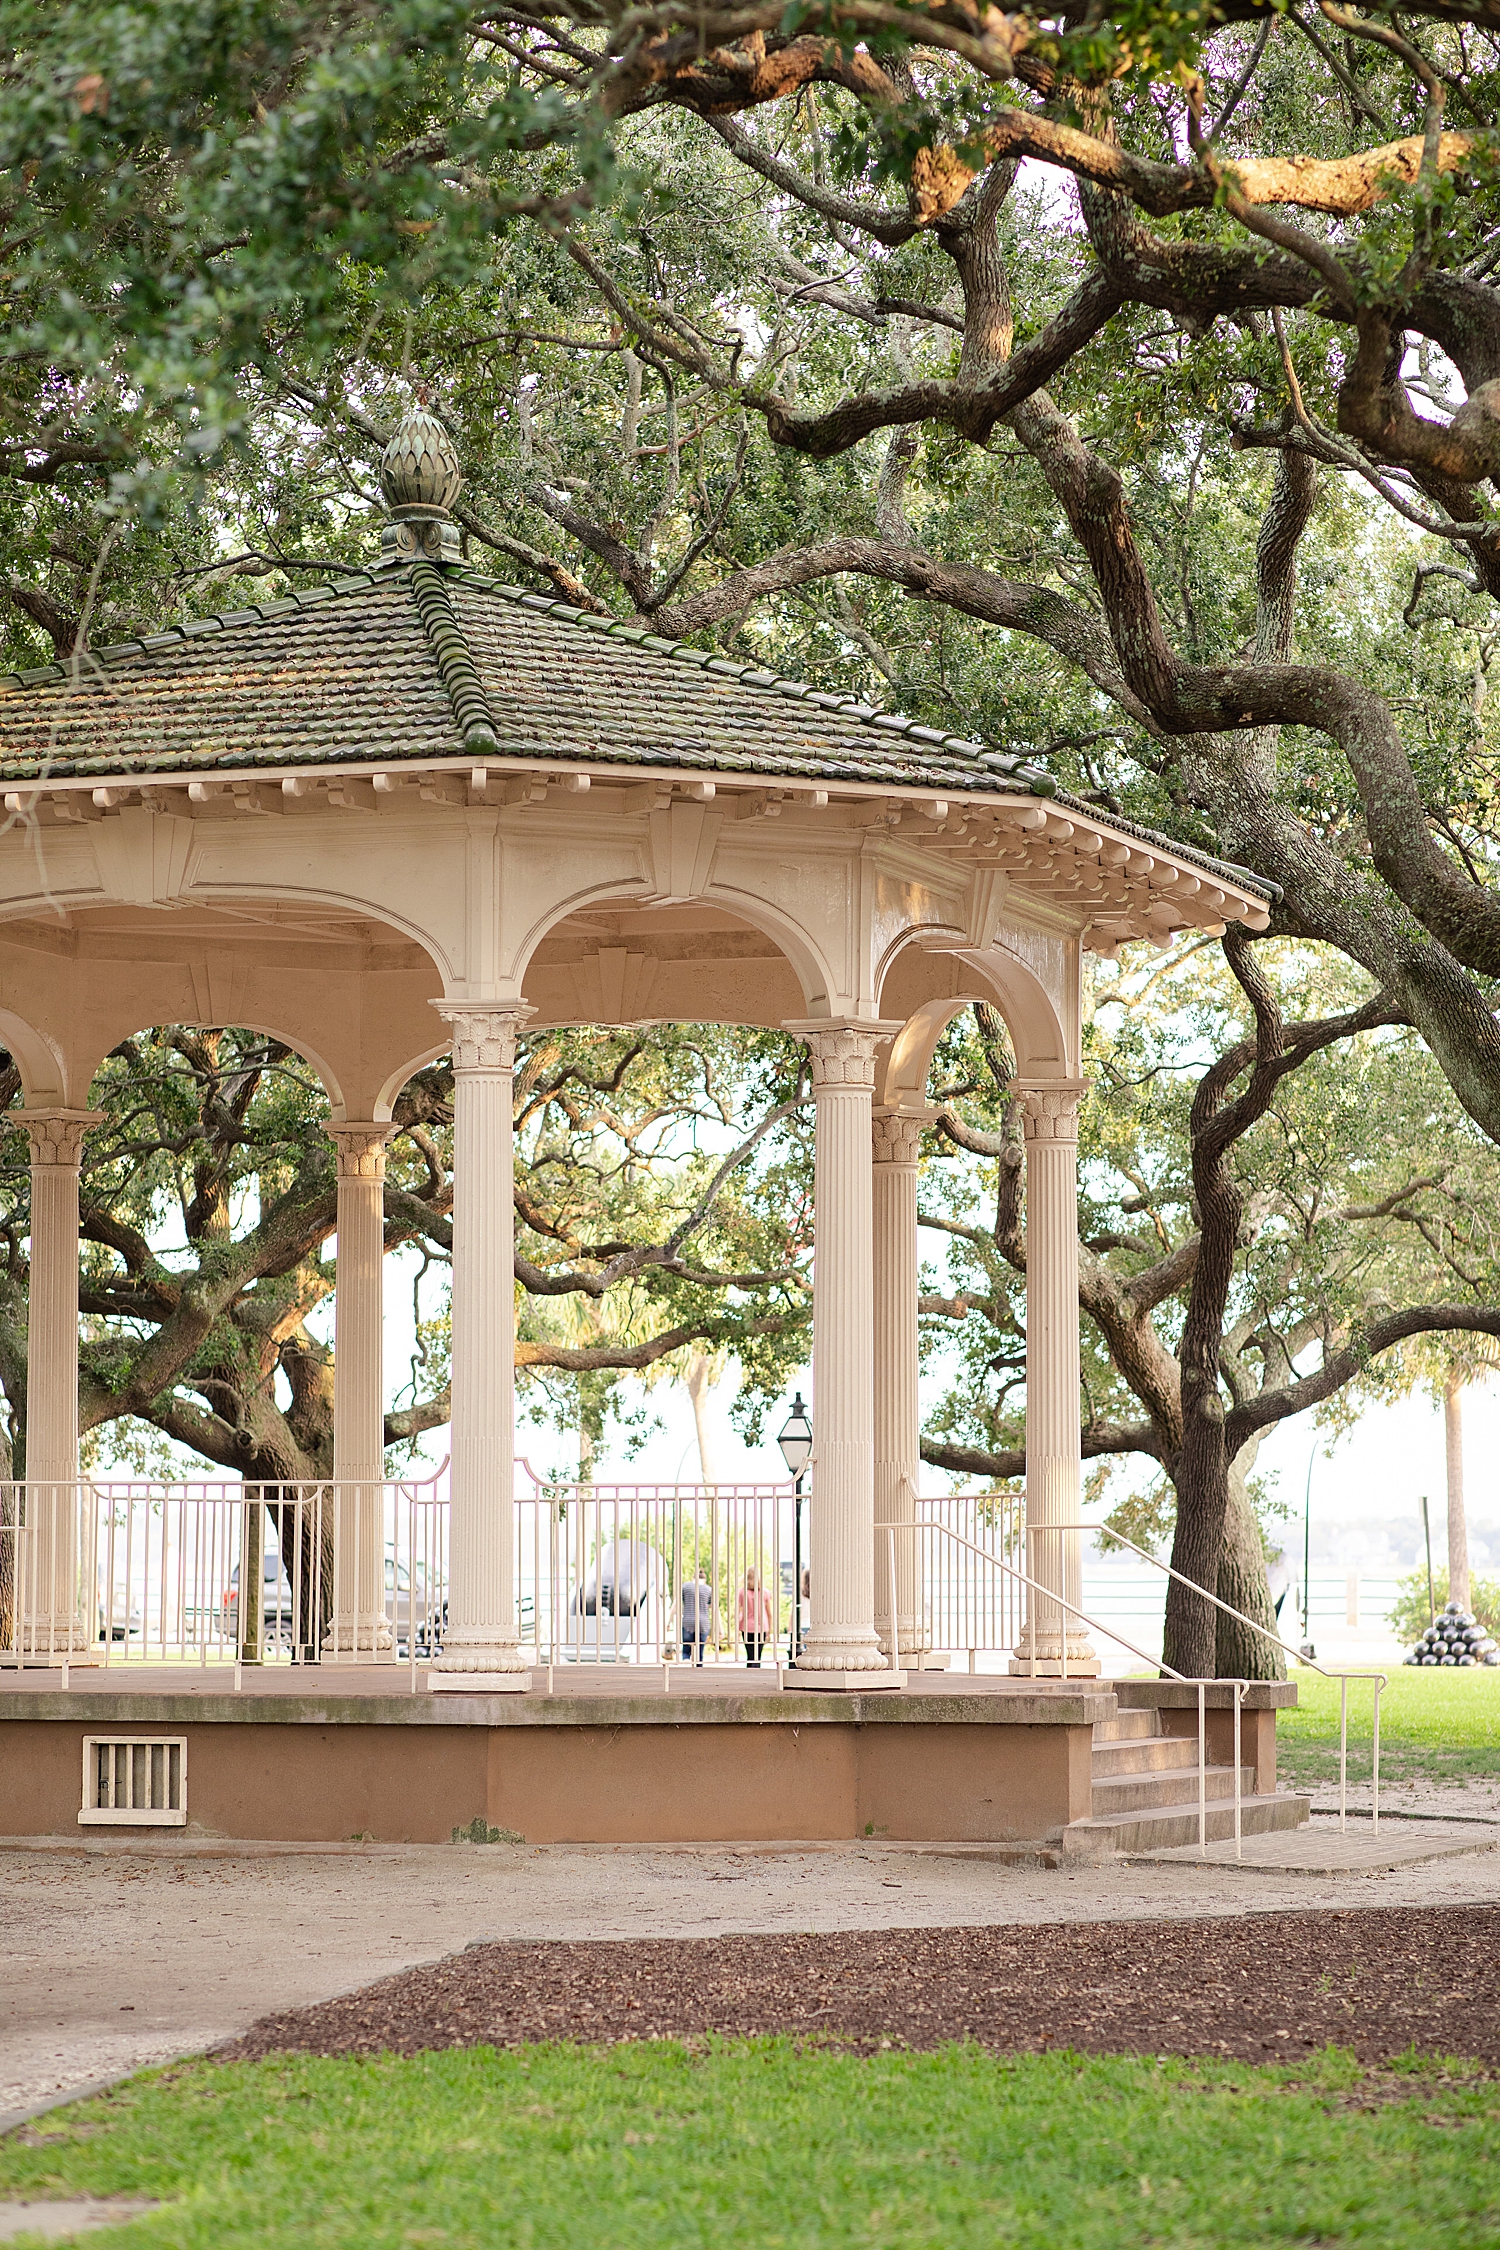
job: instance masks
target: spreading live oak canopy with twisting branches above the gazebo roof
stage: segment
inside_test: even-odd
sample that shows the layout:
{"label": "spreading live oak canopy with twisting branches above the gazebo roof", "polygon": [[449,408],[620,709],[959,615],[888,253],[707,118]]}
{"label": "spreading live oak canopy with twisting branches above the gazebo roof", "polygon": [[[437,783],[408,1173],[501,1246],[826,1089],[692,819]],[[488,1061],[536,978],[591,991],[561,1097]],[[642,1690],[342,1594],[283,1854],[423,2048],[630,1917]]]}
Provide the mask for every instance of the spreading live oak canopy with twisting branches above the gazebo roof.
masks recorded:
{"label": "spreading live oak canopy with twisting branches above the gazebo roof", "polygon": [[[475,551],[1253,864],[1500,1136],[1489,0],[0,29],[18,646],[349,551],[425,374]],[[1228,1505],[1210,1330],[1183,1555]]]}

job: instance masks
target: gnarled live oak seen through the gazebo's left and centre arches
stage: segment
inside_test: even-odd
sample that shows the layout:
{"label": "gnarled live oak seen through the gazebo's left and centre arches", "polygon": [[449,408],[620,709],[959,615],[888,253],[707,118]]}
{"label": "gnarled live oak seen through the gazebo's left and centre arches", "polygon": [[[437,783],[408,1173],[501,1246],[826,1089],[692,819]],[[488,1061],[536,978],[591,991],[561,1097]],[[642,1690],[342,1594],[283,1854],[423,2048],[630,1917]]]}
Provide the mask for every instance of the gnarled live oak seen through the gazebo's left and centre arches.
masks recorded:
{"label": "gnarled live oak seen through the gazebo's left and centre arches", "polygon": [[[0,1096],[16,1098],[16,1073]],[[250,1480],[328,1476],[337,1222],[326,1096],[261,1033],[164,1026],[94,1078],[103,1125],[81,1184],[85,1449],[162,1467],[160,1440]],[[607,1390],[686,1343],[733,1350],[744,1406],[780,1390],[807,1323],[810,1150],[792,1042],[713,1028],[537,1033],[517,1066],[517,1364]],[[744,1114],[756,1112],[747,1127]],[[0,1388],[25,1474],[27,1145],[0,1170]],[[396,1105],[387,1256],[407,1251],[416,1357],[385,1418],[394,1460],[448,1422],[452,1071]],[[630,1298],[614,1332],[567,1339],[555,1310]],[[92,1442],[92,1447],[90,1447]]]}

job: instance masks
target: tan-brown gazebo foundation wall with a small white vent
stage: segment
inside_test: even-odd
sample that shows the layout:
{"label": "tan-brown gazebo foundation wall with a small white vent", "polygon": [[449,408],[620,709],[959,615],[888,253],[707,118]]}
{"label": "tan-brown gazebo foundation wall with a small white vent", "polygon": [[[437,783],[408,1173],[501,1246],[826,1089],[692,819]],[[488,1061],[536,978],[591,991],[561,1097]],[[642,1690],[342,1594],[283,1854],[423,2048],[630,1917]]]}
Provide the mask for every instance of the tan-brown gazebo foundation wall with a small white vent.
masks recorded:
{"label": "tan-brown gazebo foundation wall with a small white vent", "polygon": [[83,1737],[178,1735],[175,1834],[283,1843],[448,1843],[475,1818],[528,1843],[1055,1843],[1088,1818],[1113,1710],[1082,1692],[2,1701],[0,1834],[99,1836],[79,1827]]}

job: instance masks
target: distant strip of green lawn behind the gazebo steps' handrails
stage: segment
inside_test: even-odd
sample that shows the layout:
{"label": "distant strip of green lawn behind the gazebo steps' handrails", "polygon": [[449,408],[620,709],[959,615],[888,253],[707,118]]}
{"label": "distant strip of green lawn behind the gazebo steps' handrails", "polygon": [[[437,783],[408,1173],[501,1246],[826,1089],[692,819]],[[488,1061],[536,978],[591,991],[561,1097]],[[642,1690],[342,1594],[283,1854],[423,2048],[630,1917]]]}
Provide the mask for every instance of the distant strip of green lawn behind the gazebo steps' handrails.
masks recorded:
{"label": "distant strip of green lawn behind the gazebo steps' handrails", "polygon": [[[1293,1784],[1338,1780],[1338,1681],[1293,1667],[1298,1708],[1275,1726],[1277,1768]],[[1349,1775],[1370,1780],[1370,1703],[1349,1683]],[[1408,1670],[1381,1694],[1381,1775],[1433,1782],[1500,1778],[1500,1667]]]}

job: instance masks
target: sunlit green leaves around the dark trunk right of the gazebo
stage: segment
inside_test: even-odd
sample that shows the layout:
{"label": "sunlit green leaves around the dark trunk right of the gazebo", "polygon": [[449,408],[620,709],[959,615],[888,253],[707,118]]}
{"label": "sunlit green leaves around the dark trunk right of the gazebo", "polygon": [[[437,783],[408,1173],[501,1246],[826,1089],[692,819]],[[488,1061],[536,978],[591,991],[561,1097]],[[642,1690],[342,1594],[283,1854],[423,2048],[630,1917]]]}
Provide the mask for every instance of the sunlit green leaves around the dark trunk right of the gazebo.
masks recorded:
{"label": "sunlit green leaves around the dark trunk right of the gazebo", "polygon": [[[1266,943],[1264,956],[1289,1024],[1343,1015],[1367,992],[1325,952]],[[1149,1350],[1142,1343],[1122,1361],[1106,1328],[1084,1318],[1084,1433],[1106,1456],[1088,1496],[1109,1501],[1115,1530],[1145,1548],[1169,1537],[1172,1485],[1138,1460],[1120,1472],[1127,1487],[1111,1492],[1109,1460],[1169,1458],[1169,1433],[1147,1400],[1163,1370],[1172,1375],[1194,1274],[1190,1112],[1205,1069],[1248,1030],[1244,992],[1217,947],[1095,974],[1084,1048],[1093,1094],[1079,1120],[1084,1267],[1100,1294],[1149,1287],[1151,1321]],[[996,1017],[967,1012],[949,1026],[931,1091],[969,1145],[936,1138],[920,1190],[927,1242],[942,1251],[924,1274],[924,1352],[949,1377],[927,1438],[996,1462],[1019,1456],[1025,1408],[1023,1274],[992,1217],[1021,1154],[1010,1069]],[[1318,1400],[1295,1388],[1309,1354],[1331,1359],[1372,1314],[1496,1300],[1500,1161],[1408,1030],[1340,1040],[1289,1071],[1235,1143],[1232,1174],[1244,1197],[1221,1354],[1232,1400],[1284,1395],[1282,1411],[1316,1408],[1338,1431],[1367,1400],[1408,1388],[1412,1370],[1403,1352],[1356,1352]],[[1262,1516],[1275,1512],[1271,1492],[1255,1496]]]}

